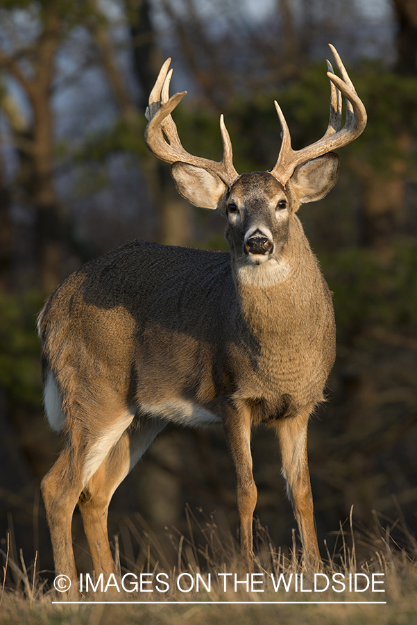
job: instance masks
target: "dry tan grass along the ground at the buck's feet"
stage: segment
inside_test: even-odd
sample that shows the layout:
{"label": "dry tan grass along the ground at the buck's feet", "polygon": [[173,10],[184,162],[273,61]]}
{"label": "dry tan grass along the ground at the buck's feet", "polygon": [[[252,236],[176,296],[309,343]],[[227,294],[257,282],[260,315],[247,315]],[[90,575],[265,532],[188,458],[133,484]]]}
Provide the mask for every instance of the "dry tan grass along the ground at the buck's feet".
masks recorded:
{"label": "dry tan grass along the ground at the buck's feet", "polygon": [[[245,625],[274,621],[280,625],[415,625],[417,622],[417,544],[401,518],[383,528],[375,517],[375,531],[359,533],[354,530],[351,514],[350,519],[341,524],[332,552],[325,545],[327,558],[323,573],[330,578],[330,587],[325,592],[314,592],[312,574],[303,573],[295,536],[292,549],[284,553],[275,549],[268,533],[259,524],[255,527],[257,576],[254,580],[262,581],[262,584],[254,585],[254,592],[250,588],[247,591],[246,584],[238,584],[235,592],[235,572],[237,581],[245,581],[246,576],[239,573],[239,549],[232,533],[213,518],[207,519],[202,515],[197,518],[190,510],[187,510],[187,518],[187,536],[175,530],[167,531],[168,542],[165,544],[146,524],[139,523],[138,518],[128,520],[126,527],[129,533],[122,533],[124,547],[130,554],[135,551],[133,543],[135,547],[140,547],[135,561],[133,558],[126,561],[126,556],[120,556],[119,542],[115,541],[119,586],[126,572],[135,574],[137,578],[141,573],[147,574],[146,581],[152,579],[153,574],[153,585],[146,586],[152,587],[153,592],[117,592],[113,588],[103,593],[89,592],[77,605],[53,603],[60,601],[62,596],[49,588],[44,575],[37,572],[36,562],[26,567],[22,553],[20,562],[15,562],[8,552],[1,552],[4,564],[0,585],[0,623],[110,625],[119,621],[126,625],[137,622],[146,625],[214,625],[223,622]],[[393,531],[400,537],[396,541],[392,537]],[[357,560],[359,548],[368,550],[366,560]],[[169,576],[167,592],[156,589],[155,576],[158,573]],[[223,589],[224,576],[219,577],[223,573],[232,573],[228,576],[226,592]],[[362,574],[361,581],[365,579],[363,574],[383,574],[375,579],[384,580],[379,588],[384,588],[385,592],[371,592],[371,589],[349,592],[349,574],[354,576],[358,573]],[[201,583],[198,592],[195,587],[190,592],[181,592],[175,583],[180,574],[186,574],[182,576],[184,588],[191,580],[196,581],[198,574],[207,584],[210,574],[210,592]],[[282,583],[277,591],[274,590],[273,580],[276,582],[281,574],[287,584],[291,579],[288,592]],[[300,590],[300,574],[303,574],[303,592]],[[345,591],[332,590],[332,585],[341,589],[332,581],[334,574],[339,574],[338,580],[341,576],[346,578]],[[298,590],[295,590],[296,576]],[[128,578],[129,581],[132,579],[131,576]],[[325,578],[322,576],[319,581],[325,581]],[[162,585],[159,587],[164,588]],[[255,592],[259,589],[264,592]],[[312,589],[312,592],[307,592],[307,589]],[[145,601],[150,603],[143,603]],[[179,601],[185,603],[173,603]],[[353,601],[361,603],[348,603]],[[373,603],[381,601],[386,603]]]}

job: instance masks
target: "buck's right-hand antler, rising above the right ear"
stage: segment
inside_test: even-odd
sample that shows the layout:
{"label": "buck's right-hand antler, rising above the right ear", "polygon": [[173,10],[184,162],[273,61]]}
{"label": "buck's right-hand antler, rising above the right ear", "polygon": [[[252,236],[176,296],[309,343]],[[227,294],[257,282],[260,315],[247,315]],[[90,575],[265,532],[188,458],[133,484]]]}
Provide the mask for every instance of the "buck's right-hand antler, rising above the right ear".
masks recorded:
{"label": "buck's right-hand antler, rising above the right ear", "polygon": [[[339,54],[332,44],[329,44],[329,46],[336,60],[341,78],[334,74],[332,65],[327,61],[327,69],[329,70],[327,76],[330,78],[331,88],[330,119],[327,131],[323,137],[302,150],[293,150],[291,148],[291,137],[287,122],[278,102],[275,101],[275,108],[282,128],[282,145],[275,167],[271,169],[271,174],[282,185],[287,183],[297,165],[304,163],[310,158],[322,156],[331,150],[347,145],[359,137],[366,126],[365,107],[359,99],[352,81],[350,81],[348,72],[346,72]],[[343,94],[346,100],[346,122],[343,128],[341,128],[341,94]]]}

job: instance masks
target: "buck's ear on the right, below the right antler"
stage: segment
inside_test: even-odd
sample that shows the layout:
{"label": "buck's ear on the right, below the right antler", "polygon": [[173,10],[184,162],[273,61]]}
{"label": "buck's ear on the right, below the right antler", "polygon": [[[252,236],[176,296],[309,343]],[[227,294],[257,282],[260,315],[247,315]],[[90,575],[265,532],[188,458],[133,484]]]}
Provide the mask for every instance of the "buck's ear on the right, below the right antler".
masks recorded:
{"label": "buck's ear on the right, below the right antler", "polygon": [[322,199],[334,187],[339,172],[339,156],[329,152],[298,165],[289,179],[300,204]]}

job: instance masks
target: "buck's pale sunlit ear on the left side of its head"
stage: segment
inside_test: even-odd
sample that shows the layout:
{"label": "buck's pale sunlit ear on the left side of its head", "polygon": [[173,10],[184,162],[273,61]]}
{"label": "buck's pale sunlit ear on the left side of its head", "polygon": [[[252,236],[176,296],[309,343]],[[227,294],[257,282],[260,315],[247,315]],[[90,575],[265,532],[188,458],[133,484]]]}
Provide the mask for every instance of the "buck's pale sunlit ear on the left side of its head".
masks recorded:
{"label": "buck's pale sunlit ear on the left side of its head", "polygon": [[173,163],[171,176],[178,193],[194,206],[201,208],[217,208],[217,203],[226,188],[225,183],[216,174],[187,163]]}

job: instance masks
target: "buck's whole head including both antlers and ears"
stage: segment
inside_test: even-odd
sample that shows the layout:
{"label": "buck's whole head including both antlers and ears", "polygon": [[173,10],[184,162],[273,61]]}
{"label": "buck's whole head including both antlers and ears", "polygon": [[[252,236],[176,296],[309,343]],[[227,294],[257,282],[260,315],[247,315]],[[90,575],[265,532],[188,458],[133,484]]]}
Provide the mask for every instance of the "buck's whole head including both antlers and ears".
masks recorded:
{"label": "buck's whole head including both antlers and ears", "polygon": [[[171,163],[171,175],[178,192],[195,206],[218,209],[228,220],[226,238],[232,259],[240,267],[268,261],[282,265],[291,231],[291,217],[300,204],[325,197],[337,181],[339,157],[332,149],[357,138],[366,126],[366,110],[357,96],[339,54],[330,46],[341,74],[330,78],[330,120],[323,137],[295,151],[282,110],[275,108],[282,128],[278,160],[271,172],[239,174],[232,163],[232,145],[220,118],[223,159],[216,163],[192,156],[182,147],[171,113],[186,92],[169,98],[172,69],[168,59],[158,76],[146,118],[145,141],[155,156]],[[342,98],[346,99],[346,122],[341,128]]]}

